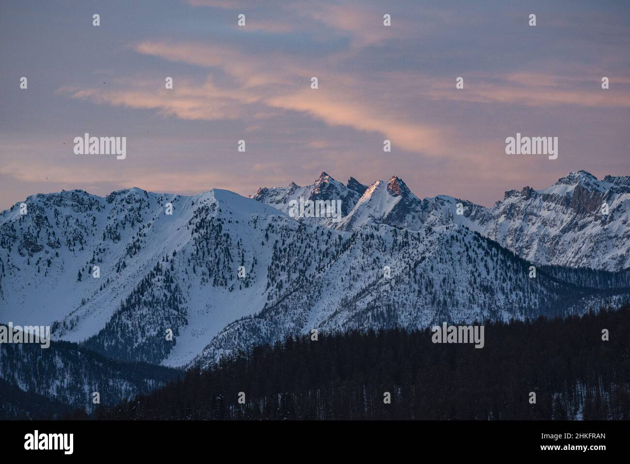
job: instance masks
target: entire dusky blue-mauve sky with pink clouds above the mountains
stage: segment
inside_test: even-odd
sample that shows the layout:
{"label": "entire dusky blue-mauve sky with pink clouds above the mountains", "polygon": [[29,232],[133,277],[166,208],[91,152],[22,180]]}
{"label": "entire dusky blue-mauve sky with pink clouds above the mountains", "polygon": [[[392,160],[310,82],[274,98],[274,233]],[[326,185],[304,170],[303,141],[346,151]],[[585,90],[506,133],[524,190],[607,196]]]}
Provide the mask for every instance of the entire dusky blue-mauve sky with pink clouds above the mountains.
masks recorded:
{"label": "entire dusky blue-mauve sky with pink clouds above the mountains", "polygon": [[[630,175],[627,1],[1,0],[0,63],[2,209],[322,171],[492,205],[570,171]],[[126,137],[125,159],[75,154],[86,132]],[[558,159],[506,154],[517,132],[558,137]]]}

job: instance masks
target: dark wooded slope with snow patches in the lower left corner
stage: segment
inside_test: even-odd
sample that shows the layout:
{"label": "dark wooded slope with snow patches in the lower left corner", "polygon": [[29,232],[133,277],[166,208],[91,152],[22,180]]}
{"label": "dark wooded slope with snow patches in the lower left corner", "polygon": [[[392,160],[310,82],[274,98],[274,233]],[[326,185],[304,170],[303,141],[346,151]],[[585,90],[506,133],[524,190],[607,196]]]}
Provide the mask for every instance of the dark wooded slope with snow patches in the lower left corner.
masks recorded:
{"label": "dark wooded slope with snow patches in the lower left corner", "polygon": [[[3,324],[0,324],[3,325]],[[179,370],[106,358],[80,344],[50,341],[0,344],[0,420],[55,419],[147,393],[177,378]],[[69,411],[69,412],[68,412]]]}

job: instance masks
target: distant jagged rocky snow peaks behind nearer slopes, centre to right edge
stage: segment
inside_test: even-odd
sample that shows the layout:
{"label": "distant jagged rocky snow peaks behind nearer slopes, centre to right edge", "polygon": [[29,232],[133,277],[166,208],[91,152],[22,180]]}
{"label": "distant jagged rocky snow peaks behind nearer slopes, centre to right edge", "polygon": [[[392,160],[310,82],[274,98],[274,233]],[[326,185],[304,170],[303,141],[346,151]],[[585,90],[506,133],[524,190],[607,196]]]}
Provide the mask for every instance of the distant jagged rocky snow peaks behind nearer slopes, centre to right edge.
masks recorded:
{"label": "distant jagged rocky snow peaks behind nearer slopes, centre to right edge", "polygon": [[[461,224],[533,263],[609,271],[630,267],[630,176],[599,181],[578,171],[544,190],[509,190],[491,208],[445,195],[420,200],[396,176],[365,186],[354,178],[344,185],[326,173],[311,186],[260,188],[251,198],[287,212],[289,201],[300,196],[341,199],[347,213],[338,224],[299,218],[339,230],[366,224],[410,230]],[[462,214],[457,214],[458,203]]]}

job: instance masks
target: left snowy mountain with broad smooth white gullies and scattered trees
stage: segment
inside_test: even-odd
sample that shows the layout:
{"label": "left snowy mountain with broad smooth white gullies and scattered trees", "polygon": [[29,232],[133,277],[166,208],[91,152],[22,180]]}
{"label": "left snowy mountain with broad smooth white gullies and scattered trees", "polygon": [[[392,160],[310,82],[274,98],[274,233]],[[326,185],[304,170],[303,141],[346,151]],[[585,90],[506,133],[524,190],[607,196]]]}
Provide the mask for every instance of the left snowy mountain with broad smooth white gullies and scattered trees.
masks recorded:
{"label": "left snowy mountain with broad smooth white gullies and scattered trees", "polygon": [[[261,243],[266,224],[282,216],[274,208],[220,190],[185,197],[132,189],[106,198],[71,191],[26,203],[26,215],[15,207],[0,216],[0,315],[7,322],[52,324],[54,339],[89,339],[104,354],[151,362],[171,356],[181,365],[213,332],[266,302],[267,282],[257,276],[273,252]],[[174,341],[166,341],[166,329]]]}

